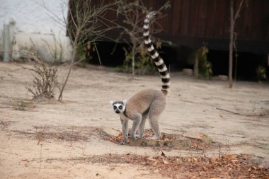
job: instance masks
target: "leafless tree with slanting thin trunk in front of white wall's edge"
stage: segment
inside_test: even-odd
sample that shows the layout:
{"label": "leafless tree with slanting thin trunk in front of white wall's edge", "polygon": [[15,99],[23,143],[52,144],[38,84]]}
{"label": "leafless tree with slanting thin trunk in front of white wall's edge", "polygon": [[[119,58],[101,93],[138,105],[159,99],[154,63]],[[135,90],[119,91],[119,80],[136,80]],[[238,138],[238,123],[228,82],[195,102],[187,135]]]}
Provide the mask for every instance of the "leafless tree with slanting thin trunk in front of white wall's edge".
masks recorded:
{"label": "leafless tree with slanting thin trunk in front of white wall's edge", "polygon": [[68,18],[63,18],[63,20],[50,11],[44,2],[40,4],[59,25],[67,29],[67,35],[70,37],[73,47],[69,71],[60,88],[58,100],[62,100],[62,94],[71,74],[71,69],[74,67],[74,64],[82,60],[76,59],[77,50],[79,47],[94,44],[96,40],[103,37],[106,31],[110,30],[110,27],[107,25],[108,22],[103,16],[107,11],[113,10],[112,6],[115,4],[116,2],[107,3],[99,1],[98,4],[93,4],[91,0],[69,0],[62,4],[62,12],[64,12],[64,7],[67,7],[68,11]]}

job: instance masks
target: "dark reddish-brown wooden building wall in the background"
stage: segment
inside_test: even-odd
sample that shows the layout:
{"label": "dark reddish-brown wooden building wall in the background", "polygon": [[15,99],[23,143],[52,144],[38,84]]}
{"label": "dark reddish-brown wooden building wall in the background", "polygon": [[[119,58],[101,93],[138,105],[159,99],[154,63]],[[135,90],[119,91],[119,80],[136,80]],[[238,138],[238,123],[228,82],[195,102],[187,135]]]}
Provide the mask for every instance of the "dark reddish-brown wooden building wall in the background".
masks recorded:
{"label": "dark reddish-brown wooden building wall in the background", "polygon": [[[153,11],[165,2],[143,1],[144,6],[151,8]],[[234,8],[238,7],[239,2],[240,0],[234,1]],[[91,0],[91,4],[87,6],[95,6],[99,3],[98,0]],[[173,62],[168,62],[168,64],[183,62],[188,56],[188,52],[185,52],[185,47],[198,50],[203,45],[203,42],[207,43],[210,52],[213,52],[210,54],[218,51],[218,56],[225,56],[226,58],[225,53],[229,51],[230,1],[171,0],[170,4],[171,7],[164,11],[164,18],[158,20],[164,30],[157,34],[157,37],[173,42],[174,53],[170,53],[173,54],[173,59],[169,58]],[[268,66],[269,1],[249,0],[247,4],[241,9],[240,17],[236,21],[235,33],[238,52],[250,54],[246,54],[248,57],[244,57],[244,54],[241,55],[239,61],[243,58],[246,61],[248,60],[247,58],[251,58],[250,61],[256,61]],[[119,24],[123,21],[123,17],[117,16],[115,11],[108,11],[105,18],[115,20],[115,23]],[[107,35],[115,39],[119,33],[119,29],[115,28],[110,30]],[[215,57],[211,58],[215,60]],[[218,60],[218,62],[220,61]],[[256,66],[251,63],[246,62],[249,66],[248,68]],[[222,67],[226,67],[226,65],[220,63]]]}

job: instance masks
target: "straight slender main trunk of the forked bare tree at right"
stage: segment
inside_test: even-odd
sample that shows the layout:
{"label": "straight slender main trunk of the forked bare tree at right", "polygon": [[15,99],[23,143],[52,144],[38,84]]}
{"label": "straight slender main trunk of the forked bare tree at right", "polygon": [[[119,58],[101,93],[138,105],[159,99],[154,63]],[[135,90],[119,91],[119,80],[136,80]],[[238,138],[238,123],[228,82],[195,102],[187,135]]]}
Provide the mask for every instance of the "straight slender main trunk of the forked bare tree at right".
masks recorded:
{"label": "straight slender main trunk of the forked bare tree at right", "polygon": [[229,88],[233,87],[234,0],[230,1]]}

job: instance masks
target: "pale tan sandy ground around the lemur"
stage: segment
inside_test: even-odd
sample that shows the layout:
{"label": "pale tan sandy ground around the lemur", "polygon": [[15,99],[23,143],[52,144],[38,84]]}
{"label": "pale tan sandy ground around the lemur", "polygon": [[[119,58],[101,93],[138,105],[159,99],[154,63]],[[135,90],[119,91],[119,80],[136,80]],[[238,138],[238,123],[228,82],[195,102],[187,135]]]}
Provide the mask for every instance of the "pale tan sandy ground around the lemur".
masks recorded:
{"label": "pale tan sandy ground around the lemur", "polygon": [[[67,67],[57,68],[63,81]],[[85,161],[102,154],[160,155],[159,149],[118,146],[100,133],[103,129],[117,135],[121,130],[110,100],[128,99],[144,88],[161,88],[159,76],[132,79],[110,69],[75,67],[63,102],[35,101],[35,108],[15,110],[18,101],[32,98],[25,89],[31,81],[29,71],[0,63],[0,178],[164,178],[132,163]],[[269,163],[268,83],[237,82],[228,88],[227,81],[203,81],[177,73],[171,74],[171,81],[166,110],[159,120],[161,132],[204,134],[227,145],[220,148],[222,154],[253,154],[258,162]],[[212,156],[219,149],[165,152],[167,156]]]}

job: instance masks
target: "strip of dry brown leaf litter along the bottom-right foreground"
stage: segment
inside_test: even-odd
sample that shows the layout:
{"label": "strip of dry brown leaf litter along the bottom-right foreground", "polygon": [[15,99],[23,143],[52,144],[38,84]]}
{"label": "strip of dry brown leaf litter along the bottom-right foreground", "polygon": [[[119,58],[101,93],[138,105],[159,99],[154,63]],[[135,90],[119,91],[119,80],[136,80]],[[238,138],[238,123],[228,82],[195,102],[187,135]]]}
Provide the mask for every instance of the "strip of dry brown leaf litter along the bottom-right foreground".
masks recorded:
{"label": "strip of dry brown leaf litter along the bottom-right foreground", "polygon": [[[57,158],[47,161],[57,161]],[[251,161],[251,156],[232,154],[217,157],[147,157],[133,154],[105,154],[71,158],[81,163],[129,163],[144,166],[154,173],[169,178],[268,178],[269,168],[263,168]]]}

